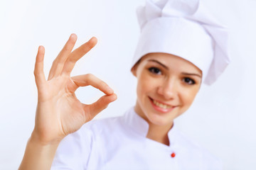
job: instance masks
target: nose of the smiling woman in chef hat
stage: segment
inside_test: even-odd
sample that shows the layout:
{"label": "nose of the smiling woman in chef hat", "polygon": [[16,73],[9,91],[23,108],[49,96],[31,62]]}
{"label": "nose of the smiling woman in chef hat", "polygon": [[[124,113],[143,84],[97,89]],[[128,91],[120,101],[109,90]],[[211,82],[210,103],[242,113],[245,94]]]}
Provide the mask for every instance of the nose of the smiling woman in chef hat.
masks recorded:
{"label": "nose of the smiling woman in chef hat", "polygon": [[159,84],[157,89],[158,94],[164,97],[166,100],[174,99],[178,94],[178,84],[174,79],[166,79]]}

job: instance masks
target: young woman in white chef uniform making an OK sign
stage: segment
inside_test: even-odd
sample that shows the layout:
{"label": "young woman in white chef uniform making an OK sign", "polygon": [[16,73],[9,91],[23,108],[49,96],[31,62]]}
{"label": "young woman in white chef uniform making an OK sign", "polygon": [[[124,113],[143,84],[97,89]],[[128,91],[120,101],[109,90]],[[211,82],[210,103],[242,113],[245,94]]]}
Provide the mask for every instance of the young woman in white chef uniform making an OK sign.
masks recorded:
{"label": "young woman in white chef uniform making an OK sign", "polygon": [[[137,102],[121,117],[89,123],[117,96],[92,74],[70,77],[96,38],[72,52],[77,37],[70,35],[48,80],[38,48],[36,124],[19,169],[221,169],[178,132],[174,119],[191,106],[201,83],[213,83],[228,64],[225,28],[198,1],[146,1],[138,18],[142,34],[131,69]],[[75,90],[88,85],[105,96],[80,103]]]}

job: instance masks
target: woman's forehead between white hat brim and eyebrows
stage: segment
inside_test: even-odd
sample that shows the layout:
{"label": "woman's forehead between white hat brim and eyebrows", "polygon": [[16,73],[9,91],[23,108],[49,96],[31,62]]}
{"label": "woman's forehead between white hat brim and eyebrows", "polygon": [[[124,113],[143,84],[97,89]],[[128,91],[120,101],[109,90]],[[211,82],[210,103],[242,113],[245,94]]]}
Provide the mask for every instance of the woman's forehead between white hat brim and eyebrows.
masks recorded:
{"label": "woman's forehead between white hat brim and eyebrows", "polygon": [[182,70],[182,72],[198,72],[201,73],[201,69],[196,67],[192,62],[178,57],[176,55],[171,55],[168,53],[154,52],[144,55],[141,62],[144,64],[151,64],[154,61],[161,62],[166,67],[175,70]]}

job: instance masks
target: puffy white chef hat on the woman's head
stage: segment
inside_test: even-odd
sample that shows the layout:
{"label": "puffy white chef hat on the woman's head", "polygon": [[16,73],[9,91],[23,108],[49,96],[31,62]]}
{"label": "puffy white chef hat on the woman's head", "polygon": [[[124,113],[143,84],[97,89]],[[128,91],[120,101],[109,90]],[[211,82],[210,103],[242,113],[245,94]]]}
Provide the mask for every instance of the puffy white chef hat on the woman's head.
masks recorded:
{"label": "puffy white chef hat on the woman's head", "polygon": [[210,85],[228,66],[227,29],[199,0],[146,0],[137,17],[141,35],[132,67],[148,53],[169,53],[196,65]]}

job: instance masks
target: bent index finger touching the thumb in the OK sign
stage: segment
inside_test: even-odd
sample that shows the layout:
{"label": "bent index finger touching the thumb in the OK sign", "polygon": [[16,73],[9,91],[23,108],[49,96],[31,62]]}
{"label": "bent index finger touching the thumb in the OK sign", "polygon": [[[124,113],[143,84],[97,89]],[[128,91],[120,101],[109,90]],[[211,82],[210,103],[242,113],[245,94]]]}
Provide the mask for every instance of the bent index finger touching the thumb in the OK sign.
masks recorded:
{"label": "bent index finger touching the thumb in the OK sign", "polygon": [[93,74],[84,74],[84,75],[72,77],[72,79],[78,87],[90,85],[95,87],[96,89],[99,89],[100,91],[102,91],[107,95],[114,94],[114,91],[110,88],[110,86],[108,86],[101,79],[95,77]]}

